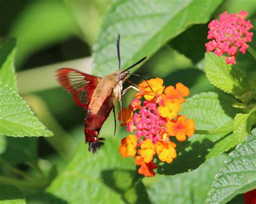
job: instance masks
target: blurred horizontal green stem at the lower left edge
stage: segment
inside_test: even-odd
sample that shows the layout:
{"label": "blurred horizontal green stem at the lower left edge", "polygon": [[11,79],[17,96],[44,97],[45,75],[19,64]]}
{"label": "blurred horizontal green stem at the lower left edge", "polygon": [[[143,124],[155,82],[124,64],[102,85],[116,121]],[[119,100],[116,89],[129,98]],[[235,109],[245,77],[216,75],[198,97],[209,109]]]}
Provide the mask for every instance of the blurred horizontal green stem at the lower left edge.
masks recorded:
{"label": "blurred horizontal green stem at the lower left edge", "polygon": [[45,179],[35,179],[35,180],[18,180],[9,177],[3,177],[0,175],[0,184],[7,184],[12,186],[18,186],[21,188],[31,188],[31,189],[45,189],[49,183]]}

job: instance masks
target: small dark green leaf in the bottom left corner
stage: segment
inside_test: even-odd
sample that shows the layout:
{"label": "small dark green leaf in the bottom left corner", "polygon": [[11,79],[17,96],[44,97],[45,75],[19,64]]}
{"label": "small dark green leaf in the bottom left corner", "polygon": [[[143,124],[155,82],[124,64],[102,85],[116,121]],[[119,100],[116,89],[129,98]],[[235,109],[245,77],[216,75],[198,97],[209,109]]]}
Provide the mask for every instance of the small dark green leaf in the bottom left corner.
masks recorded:
{"label": "small dark green leaf in the bottom left corner", "polygon": [[0,184],[0,204],[25,204],[21,190],[15,186]]}

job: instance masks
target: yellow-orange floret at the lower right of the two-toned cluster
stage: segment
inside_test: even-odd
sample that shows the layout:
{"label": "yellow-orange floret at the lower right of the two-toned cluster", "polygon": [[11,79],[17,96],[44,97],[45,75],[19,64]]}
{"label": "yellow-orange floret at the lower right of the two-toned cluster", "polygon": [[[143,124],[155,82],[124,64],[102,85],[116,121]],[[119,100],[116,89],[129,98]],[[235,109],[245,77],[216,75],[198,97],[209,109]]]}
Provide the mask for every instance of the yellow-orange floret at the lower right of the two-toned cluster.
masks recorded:
{"label": "yellow-orange floret at the lower right of the two-toned cluster", "polygon": [[176,144],[173,142],[158,141],[156,144],[158,158],[163,162],[171,163],[177,157],[175,147]]}

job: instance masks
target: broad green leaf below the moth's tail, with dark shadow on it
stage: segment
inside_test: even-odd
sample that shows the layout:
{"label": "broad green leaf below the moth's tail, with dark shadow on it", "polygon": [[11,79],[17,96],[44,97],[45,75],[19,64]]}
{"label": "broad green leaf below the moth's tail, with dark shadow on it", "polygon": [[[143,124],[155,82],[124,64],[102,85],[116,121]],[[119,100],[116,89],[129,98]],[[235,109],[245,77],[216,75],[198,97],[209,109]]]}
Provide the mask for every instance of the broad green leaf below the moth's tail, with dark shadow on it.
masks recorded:
{"label": "broad green leaf below the moth's tail, with dark shadow on it", "polygon": [[145,191],[130,188],[134,160],[120,156],[119,143],[119,138],[107,138],[103,149],[94,155],[87,145],[80,144],[47,191],[68,203],[124,203],[141,198],[137,194]]}

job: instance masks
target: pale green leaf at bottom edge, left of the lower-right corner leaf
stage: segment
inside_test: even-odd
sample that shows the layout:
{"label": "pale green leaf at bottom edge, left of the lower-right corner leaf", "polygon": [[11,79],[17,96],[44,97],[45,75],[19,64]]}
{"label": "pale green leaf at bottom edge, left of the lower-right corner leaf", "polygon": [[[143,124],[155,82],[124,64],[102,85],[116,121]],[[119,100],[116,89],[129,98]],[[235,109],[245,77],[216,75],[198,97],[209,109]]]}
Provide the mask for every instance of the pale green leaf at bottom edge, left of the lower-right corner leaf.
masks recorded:
{"label": "pale green leaf at bottom edge, left of the lower-right corner leaf", "polygon": [[[206,161],[197,170],[179,175],[159,176],[145,178],[143,182],[147,186],[147,193],[151,203],[205,203],[207,192],[211,188],[214,175],[223,166],[227,156],[220,155]],[[202,186],[204,186],[202,188]]]}

